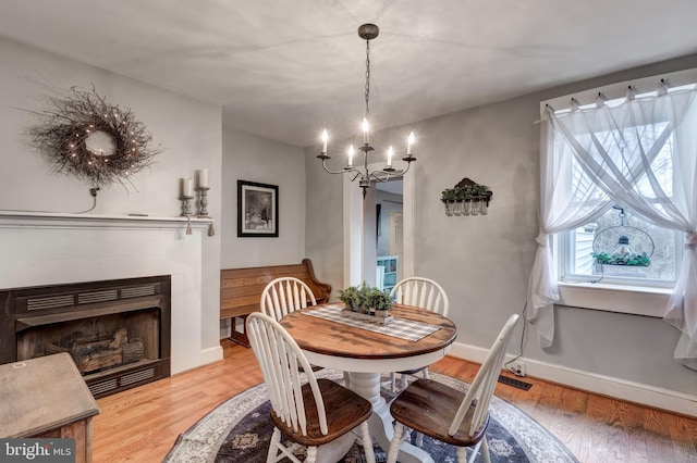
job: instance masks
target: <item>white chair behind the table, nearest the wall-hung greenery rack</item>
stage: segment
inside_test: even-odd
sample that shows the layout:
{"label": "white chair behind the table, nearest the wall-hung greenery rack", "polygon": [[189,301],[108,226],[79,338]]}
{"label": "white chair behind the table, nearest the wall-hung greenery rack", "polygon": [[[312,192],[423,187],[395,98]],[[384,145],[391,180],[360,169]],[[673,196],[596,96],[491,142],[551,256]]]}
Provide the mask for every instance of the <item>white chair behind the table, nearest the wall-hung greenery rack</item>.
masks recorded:
{"label": "white chair behind the table, nearest the wall-hung greenery rack", "polygon": [[[418,276],[404,278],[399,281],[394,288],[392,288],[390,296],[392,296],[394,301],[398,303],[414,305],[448,316],[448,310],[450,308],[448,295],[445,293],[445,290],[432,279]],[[428,366],[404,372],[392,372],[390,374],[390,386],[392,391],[396,392],[398,374],[401,376],[400,387],[404,389],[406,387],[406,375],[414,375],[419,372],[428,379]]]}

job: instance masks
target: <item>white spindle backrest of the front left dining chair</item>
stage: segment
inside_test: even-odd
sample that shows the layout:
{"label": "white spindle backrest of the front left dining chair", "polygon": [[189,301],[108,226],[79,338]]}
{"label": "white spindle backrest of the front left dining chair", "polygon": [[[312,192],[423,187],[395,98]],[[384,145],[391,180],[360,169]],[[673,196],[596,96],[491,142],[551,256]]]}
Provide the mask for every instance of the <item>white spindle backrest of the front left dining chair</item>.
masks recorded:
{"label": "white spindle backrest of the front left dining chair", "polygon": [[[303,399],[301,370],[315,401],[322,435],[328,434],[325,403],[309,362],[295,340],[271,316],[254,312],[247,316],[249,345],[254,351],[264,381],[269,391],[271,408],[277,416],[295,433],[307,435],[306,404]],[[313,409],[313,404],[307,404]]]}

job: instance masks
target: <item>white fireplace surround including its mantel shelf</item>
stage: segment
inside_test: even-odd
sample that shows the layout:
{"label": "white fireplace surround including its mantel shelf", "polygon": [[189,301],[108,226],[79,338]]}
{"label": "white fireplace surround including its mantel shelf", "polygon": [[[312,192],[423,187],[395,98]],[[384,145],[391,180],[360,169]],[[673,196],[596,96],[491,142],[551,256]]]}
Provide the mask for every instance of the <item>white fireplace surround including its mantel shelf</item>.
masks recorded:
{"label": "white fireplace surround including its mantel shelf", "polygon": [[207,337],[213,333],[217,341],[219,324],[219,309],[211,305],[219,288],[211,286],[205,263],[215,245],[208,236],[212,224],[192,217],[192,235],[186,235],[188,218],[182,216],[0,211],[0,286],[171,275],[176,374],[222,358],[220,346],[208,346]]}

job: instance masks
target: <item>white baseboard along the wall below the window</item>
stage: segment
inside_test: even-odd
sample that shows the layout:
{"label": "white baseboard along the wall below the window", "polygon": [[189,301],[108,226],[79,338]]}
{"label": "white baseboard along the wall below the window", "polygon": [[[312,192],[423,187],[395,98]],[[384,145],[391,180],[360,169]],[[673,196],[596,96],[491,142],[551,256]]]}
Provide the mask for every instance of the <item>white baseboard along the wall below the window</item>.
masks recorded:
{"label": "white baseboard along the wall below the window", "polygon": [[[484,362],[488,350],[477,346],[453,343],[449,355],[470,362]],[[513,355],[508,355],[508,360]],[[681,415],[697,417],[697,396],[670,389],[627,381],[611,376],[598,375],[566,366],[521,358],[527,366],[527,374],[536,378],[559,383],[588,392],[612,397],[645,406],[667,410]]]}

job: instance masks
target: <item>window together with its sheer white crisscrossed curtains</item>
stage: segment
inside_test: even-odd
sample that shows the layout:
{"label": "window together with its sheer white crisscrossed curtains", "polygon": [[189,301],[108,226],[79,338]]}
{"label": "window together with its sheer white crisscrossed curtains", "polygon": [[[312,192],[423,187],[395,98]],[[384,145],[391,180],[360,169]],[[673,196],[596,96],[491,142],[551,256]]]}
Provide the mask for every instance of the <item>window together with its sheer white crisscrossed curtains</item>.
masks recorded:
{"label": "window together with its sheer white crisscrossed curtains", "polygon": [[[575,95],[566,111],[558,110],[568,104],[568,96],[540,103],[540,233],[528,283],[528,318],[535,320],[542,348],[553,342],[553,304],[561,303],[660,316],[683,333],[675,360],[695,365],[697,70],[653,79],[658,86],[649,93],[637,92],[650,87],[645,80]],[[606,252],[617,245],[638,248],[628,236],[599,241],[604,229],[615,226],[604,224],[616,224],[616,204],[626,212],[620,225],[646,233],[649,243],[641,246],[656,250],[649,267],[628,272],[631,265],[617,265],[606,275],[608,265],[598,268],[588,260],[594,245]],[[609,256],[603,262],[616,263]],[[615,284],[564,284],[606,277],[603,283]]]}

